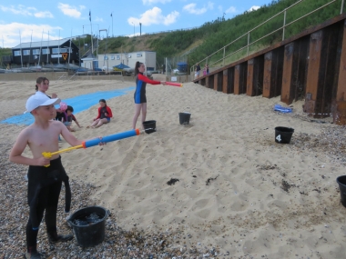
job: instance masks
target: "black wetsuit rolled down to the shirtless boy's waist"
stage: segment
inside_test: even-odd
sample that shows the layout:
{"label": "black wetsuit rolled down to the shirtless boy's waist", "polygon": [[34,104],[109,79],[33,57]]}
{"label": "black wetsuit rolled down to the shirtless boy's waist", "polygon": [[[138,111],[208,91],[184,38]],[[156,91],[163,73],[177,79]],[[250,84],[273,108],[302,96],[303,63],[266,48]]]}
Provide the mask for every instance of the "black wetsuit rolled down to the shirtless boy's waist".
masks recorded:
{"label": "black wetsuit rolled down to the shirtless boy's waist", "polygon": [[26,245],[30,247],[36,246],[38,227],[45,211],[46,231],[56,234],[56,211],[62,183],[66,188],[66,212],[70,210],[71,190],[60,156],[51,160],[47,167],[30,165],[27,178],[30,214],[26,224]]}

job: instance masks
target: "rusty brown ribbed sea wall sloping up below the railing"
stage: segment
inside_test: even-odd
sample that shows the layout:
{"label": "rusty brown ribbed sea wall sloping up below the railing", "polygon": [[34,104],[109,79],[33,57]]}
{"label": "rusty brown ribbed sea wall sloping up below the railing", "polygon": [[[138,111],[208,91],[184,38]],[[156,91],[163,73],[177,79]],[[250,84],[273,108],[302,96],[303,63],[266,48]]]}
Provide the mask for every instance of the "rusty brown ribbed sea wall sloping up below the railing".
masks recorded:
{"label": "rusty brown ribbed sea wall sloping up below the railing", "polygon": [[305,113],[346,125],[346,15],[193,81],[225,94],[280,95],[287,105],[302,98]]}

